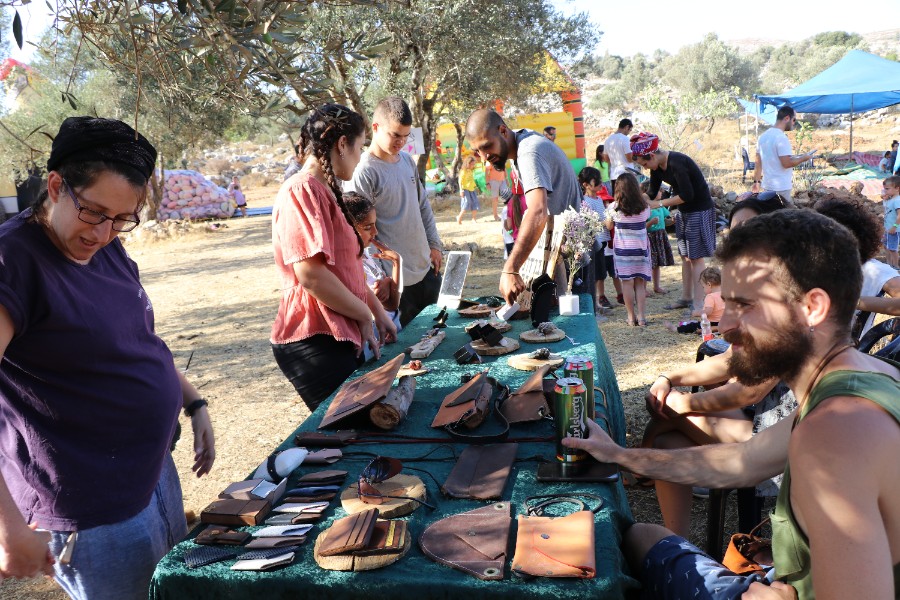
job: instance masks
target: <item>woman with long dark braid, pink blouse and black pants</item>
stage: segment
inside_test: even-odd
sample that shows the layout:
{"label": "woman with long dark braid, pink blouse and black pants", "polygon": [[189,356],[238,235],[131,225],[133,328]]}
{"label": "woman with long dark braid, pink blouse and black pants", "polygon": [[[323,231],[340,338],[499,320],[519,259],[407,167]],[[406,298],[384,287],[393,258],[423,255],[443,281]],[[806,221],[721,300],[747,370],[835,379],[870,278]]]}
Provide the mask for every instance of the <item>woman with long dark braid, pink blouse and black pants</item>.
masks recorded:
{"label": "woman with long dark braid, pink blouse and black pants", "polygon": [[303,167],[282,184],[272,210],[282,280],[272,351],[311,411],[362,363],[365,342],[377,359],[397,336],[366,285],[363,243],[341,194],[364,141],[359,114],[340,104],[315,109],[300,135]]}

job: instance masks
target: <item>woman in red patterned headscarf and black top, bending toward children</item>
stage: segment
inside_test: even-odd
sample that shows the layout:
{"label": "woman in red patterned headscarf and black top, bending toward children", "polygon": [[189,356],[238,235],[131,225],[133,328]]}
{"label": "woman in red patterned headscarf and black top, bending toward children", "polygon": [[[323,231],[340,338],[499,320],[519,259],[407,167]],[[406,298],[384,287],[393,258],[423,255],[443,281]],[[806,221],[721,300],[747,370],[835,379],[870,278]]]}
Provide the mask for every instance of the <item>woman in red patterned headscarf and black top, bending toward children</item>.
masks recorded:
{"label": "woman in red patterned headscarf and black top, bending toward children", "polygon": [[[631,137],[631,155],[650,170],[647,192],[650,208],[678,207],[675,213],[675,238],[681,256],[681,299],[666,306],[669,310],[703,305],[700,273],[706,268],[706,257],[716,251],[716,208],[709,185],[691,157],[680,152],[660,150],[659,138],[652,133]],[[660,198],[663,182],[672,188],[669,198]]]}

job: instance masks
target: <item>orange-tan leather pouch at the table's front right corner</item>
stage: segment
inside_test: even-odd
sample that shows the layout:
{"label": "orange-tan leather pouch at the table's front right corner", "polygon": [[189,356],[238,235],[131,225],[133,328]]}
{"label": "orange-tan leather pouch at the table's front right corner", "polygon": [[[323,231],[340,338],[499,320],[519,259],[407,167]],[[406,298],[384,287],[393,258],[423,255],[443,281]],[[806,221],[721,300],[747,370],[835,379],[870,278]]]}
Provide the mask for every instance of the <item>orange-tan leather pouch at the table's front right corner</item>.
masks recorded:
{"label": "orange-tan leather pouch at the table's front right corner", "polygon": [[594,513],[580,510],[565,517],[519,515],[512,570],[535,577],[579,577],[596,573]]}

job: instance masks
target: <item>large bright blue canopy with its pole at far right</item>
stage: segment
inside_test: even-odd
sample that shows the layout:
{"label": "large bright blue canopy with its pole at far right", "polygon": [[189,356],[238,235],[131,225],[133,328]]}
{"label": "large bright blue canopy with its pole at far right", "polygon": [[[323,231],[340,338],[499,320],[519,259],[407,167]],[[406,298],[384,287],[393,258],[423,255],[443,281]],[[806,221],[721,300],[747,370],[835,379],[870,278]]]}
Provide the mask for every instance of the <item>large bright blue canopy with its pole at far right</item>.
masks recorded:
{"label": "large bright blue canopy with its pole at far right", "polygon": [[789,104],[797,112],[850,114],[850,152],[853,152],[853,113],[900,104],[900,63],[851,50],[838,62],[792,90],[757,96],[760,106]]}

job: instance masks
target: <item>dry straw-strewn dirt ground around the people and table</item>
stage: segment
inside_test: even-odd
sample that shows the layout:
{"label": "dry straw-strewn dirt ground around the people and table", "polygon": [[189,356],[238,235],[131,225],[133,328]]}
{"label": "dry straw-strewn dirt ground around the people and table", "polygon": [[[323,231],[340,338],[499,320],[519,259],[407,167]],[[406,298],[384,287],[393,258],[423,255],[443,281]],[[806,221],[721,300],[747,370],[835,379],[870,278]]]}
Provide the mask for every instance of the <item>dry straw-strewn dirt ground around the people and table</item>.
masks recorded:
{"label": "dry straw-strewn dirt ground around the people and table", "polygon": [[[270,204],[276,190],[250,191],[250,206]],[[500,224],[482,208],[477,223],[466,220],[457,225],[457,210],[455,200],[436,204],[438,229],[447,249],[474,251],[465,293],[495,294],[503,260]],[[127,242],[153,301],[157,332],[178,367],[185,368],[190,361],[187,375],[209,401],[216,435],[212,473],[203,479],[191,473],[189,431],[174,454],[185,509],[196,514],[226,485],[246,477],[309,414],[275,364],[268,342],[280,288],[272,260],[271,219],[238,218],[226,224],[218,230],[197,224],[190,232],[162,241]],[[622,307],[599,322],[625,404],[629,444],[640,439],[646,422],[643,395],[654,377],[692,361],[696,351],[696,337],[672,334],[663,327],[663,320],[679,316],[662,307],[678,297],[680,281],[678,266],[663,269],[664,287],[671,292],[648,299],[648,327],[627,327]],[[182,425],[190,427],[184,418]],[[638,520],[661,522],[652,489],[630,490],[629,496]],[[697,543],[705,540],[706,504],[694,502]],[[0,597],[66,596],[51,581],[7,581],[0,584]]]}

